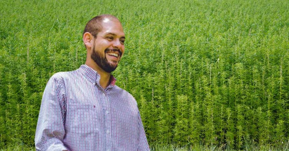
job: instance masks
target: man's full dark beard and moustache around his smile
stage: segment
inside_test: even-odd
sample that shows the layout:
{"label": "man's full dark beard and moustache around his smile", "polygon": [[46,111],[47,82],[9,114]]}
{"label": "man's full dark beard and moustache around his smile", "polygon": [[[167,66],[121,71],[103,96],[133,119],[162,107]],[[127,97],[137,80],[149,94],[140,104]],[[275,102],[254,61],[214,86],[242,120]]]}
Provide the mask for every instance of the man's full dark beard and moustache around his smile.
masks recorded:
{"label": "man's full dark beard and moustache around his smile", "polygon": [[[98,51],[95,50],[95,47],[93,46],[93,52],[91,54],[91,59],[105,72],[113,72],[116,68],[117,68],[117,64],[111,64],[108,62],[108,60],[106,59],[106,56],[104,55],[104,57],[101,56],[101,53],[99,53]],[[109,51],[118,51],[119,52],[119,56],[121,57],[122,53],[120,50],[117,49],[109,49],[106,48],[105,49],[105,53],[109,52]],[[119,62],[119,61],[118,61]]]}

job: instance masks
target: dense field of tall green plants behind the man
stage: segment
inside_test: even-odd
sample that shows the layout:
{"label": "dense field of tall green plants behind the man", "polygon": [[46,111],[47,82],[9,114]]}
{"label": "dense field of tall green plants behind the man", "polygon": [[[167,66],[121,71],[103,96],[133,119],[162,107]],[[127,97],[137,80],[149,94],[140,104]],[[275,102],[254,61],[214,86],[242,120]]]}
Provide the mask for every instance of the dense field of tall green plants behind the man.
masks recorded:
{"label": "dense field of tall green plants behind the man", "polygon": [[149,145],[288,149],[289,1],[0,1],[0,149],[34,146],[42,93],[85,62],[82,30],[123,23],[113,75]]}

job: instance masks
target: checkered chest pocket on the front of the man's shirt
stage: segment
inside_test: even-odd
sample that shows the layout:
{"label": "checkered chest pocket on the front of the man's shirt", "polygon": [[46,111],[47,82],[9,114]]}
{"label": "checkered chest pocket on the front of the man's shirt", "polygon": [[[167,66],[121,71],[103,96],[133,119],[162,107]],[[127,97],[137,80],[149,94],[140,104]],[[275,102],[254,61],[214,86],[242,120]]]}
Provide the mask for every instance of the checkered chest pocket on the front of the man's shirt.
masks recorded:
{"label": "checkered chest pocket on the front of the man's shirt", "polygon": [[72,128],[76,133],[97,132],[99,129],[99,113],[96,105],[73,103],[71,104]]}

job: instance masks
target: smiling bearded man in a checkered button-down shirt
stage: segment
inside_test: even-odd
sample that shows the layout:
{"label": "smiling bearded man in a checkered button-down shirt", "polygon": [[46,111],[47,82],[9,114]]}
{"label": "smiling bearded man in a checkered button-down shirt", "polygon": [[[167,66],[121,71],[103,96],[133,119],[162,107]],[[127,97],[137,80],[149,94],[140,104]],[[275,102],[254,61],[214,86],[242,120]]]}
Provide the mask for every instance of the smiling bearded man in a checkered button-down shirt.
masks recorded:
{"label": "smiling bearded man in a checkered button-down shirt", "polygon": [[94,17],[83,41],[85,64],[54,74],[46,85],[36,150],[149,150],[136,100],[111,75],[125,50],[121,22]]}

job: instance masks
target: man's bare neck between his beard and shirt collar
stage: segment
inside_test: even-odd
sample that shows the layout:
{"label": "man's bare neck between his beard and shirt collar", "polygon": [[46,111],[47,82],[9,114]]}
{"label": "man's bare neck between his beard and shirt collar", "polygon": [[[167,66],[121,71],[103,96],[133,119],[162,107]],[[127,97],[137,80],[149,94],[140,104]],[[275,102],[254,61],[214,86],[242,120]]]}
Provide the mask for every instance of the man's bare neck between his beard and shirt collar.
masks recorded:
{"label": "man's bare neck between his beard and shirt collar", "polygon": [[96,63],[89,63],[89,61],[86,61],[85,64],[95,70],[100,75],[99,84],[102,88],[105,89],[109,85],[110,73],[105,72]]}

